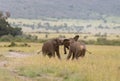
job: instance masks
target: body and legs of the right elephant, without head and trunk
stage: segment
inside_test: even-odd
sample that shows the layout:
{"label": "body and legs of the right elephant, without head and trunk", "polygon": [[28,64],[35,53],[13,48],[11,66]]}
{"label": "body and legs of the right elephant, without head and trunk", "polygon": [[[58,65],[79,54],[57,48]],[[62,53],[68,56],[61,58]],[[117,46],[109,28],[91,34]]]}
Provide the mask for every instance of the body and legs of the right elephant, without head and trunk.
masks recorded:
{"label": "body and legs of the right elephant, without head and trunk", "polygon": [[79,57],[84,57],[86,53],[86,46],[83,42],[74,41],[70,44],[69,54],[67,60],[73,55],[72,60]]}

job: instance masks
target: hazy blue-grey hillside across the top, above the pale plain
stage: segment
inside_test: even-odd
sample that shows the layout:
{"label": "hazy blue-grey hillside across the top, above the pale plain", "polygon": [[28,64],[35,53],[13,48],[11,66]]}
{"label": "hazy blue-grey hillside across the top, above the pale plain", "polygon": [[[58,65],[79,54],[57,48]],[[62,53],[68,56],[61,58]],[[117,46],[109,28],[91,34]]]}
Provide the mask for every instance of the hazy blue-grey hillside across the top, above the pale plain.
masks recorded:
{"label": "hazy blue-grey hillside across the top, above the pale plain", "polygon": [[0,11],[12,18],[101,19],[120,16],[120,0],[0,0]]}

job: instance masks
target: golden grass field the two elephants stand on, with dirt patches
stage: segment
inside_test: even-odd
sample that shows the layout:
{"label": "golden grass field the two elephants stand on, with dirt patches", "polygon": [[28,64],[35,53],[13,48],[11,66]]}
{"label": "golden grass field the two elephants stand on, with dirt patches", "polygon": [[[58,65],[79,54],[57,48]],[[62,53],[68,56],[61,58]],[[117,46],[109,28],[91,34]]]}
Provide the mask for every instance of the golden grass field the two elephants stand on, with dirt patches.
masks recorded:
{"label": "golden grass field the two elephants stand on, with dirt patches", "polygon": [[37,54],[42,43],[28,44],[31,47],[0,43],[0,81],[120,81],[120,46],[87,45],[92,54],[67,61],[62,46],[58,60]]}

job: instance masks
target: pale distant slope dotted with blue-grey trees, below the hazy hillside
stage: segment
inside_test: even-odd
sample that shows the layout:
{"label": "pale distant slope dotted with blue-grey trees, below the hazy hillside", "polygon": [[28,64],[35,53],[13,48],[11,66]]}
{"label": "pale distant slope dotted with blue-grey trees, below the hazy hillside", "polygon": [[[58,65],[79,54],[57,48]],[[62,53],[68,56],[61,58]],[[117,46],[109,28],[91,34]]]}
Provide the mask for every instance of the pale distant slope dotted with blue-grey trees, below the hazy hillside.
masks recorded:
{"label": "pale distant slope dotted with blue-grey trees, below the hazy hillside", "polygon": [[91,34],[120,34],[120,23],[103,20],[80,19],[8,19],[13,27],[21,27],[23,32],[63,32]]}

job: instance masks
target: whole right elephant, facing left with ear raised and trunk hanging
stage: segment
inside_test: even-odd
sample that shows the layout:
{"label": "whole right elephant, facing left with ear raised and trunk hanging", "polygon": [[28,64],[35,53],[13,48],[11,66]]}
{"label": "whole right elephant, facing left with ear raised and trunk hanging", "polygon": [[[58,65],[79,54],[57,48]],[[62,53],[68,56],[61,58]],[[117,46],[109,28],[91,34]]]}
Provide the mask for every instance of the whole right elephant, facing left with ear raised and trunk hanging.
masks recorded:
{"label": "whole right elephant, facing left with ear raised and trunk hanging", "polygon": [[72,56],[73,59],[78,59],[79,57],[84,57],[86,53],[86,46],[83,42],[79,42],[79,35],[76,35],[73,38],[65,39],[63,41],[64,45],[64,53],[66,54],[66,48],[69,49],[69,54],[67,56],[67,60],[69,60]]}

